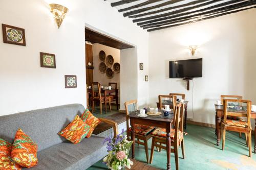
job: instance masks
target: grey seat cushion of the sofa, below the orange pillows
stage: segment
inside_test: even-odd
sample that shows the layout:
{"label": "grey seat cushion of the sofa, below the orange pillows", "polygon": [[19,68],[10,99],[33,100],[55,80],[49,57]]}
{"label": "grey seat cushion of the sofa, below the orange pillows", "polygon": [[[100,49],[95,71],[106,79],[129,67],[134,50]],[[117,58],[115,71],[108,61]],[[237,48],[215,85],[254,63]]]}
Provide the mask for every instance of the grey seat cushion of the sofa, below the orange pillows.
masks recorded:
{"label": "grey seat cushion of the sofa, below the orange pillows", "polygon": [[85,170],[108,154],[103,139],[92,135],[78,144],[65,141],[54,145],[38,153],[38,164],[30,170]]}

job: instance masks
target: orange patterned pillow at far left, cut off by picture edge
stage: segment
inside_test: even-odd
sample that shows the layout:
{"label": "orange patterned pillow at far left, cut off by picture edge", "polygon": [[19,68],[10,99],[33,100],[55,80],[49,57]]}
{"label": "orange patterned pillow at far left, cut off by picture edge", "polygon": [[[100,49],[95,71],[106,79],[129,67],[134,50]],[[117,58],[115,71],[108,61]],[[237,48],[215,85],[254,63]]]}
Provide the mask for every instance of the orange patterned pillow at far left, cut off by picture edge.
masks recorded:
{"label": "orange patterned pillow at far left, cut off by picture edge", "polygon": [[11,158],[12,144],[0,139],[0,169],[20,170],[20,166]]}

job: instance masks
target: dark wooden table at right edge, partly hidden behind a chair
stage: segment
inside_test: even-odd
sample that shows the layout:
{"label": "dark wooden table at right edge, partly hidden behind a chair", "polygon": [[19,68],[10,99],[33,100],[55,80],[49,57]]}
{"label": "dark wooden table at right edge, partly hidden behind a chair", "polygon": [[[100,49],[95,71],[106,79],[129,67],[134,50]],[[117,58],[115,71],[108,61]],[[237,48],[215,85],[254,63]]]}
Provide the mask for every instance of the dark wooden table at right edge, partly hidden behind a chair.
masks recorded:
{"label": "dark wooden table at right edge, partly hidden behind a chair", "polygon": [[[217,145],[220,145],[221,140],[221,118],[224,116],[223,106],[222,105],[215,105],[216,110],[216,129],[215,134],[217,135]],[[256,153],[256,112],[251,111],[251,118],[255,120],[255,128],[254,128],[254,153]]]}

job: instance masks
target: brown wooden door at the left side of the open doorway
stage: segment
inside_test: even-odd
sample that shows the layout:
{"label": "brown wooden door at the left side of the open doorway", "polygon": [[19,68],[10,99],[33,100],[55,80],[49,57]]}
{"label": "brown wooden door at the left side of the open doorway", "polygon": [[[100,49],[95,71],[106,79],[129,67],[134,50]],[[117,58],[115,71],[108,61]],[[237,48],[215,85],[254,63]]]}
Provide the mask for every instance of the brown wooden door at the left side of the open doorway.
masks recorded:
{"label": "brown wooden door at the left side of the open doorway", "polygon": [[[91,63],[89,65],[88,63]],[[93,46],[86,44],[86,84],[92,86],[93,83]]]}

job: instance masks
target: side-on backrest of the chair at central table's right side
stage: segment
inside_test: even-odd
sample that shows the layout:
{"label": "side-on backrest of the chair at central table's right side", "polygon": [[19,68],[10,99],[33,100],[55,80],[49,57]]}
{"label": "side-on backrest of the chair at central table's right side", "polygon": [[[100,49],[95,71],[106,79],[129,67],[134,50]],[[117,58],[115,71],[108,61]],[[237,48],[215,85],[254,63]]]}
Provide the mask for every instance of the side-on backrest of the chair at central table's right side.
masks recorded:
{"label": "side-on backrest of the chair at central table's right side", "polygon": [[[183,121],[184,121],[184,103],[179,103],[175,109],[175,133],[174,133],[174,141],[178,141],[179,131],[183,132]],[[178,125],[178,126],[176,126]]]}

